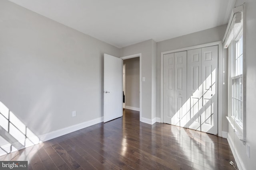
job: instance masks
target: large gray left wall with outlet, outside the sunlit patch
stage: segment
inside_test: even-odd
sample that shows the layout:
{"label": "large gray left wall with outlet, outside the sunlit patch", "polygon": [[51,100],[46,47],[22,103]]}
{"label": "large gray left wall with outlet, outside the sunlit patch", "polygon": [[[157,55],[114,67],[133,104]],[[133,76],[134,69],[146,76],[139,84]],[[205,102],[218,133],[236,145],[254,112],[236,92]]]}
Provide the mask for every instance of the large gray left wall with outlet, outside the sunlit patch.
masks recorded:
{"label": "large gray left wall with outlet, outside the sunlit patch", "polygon": [[119,52],[0,1],[0,101],[36,135],[102,117],[103,53]]}

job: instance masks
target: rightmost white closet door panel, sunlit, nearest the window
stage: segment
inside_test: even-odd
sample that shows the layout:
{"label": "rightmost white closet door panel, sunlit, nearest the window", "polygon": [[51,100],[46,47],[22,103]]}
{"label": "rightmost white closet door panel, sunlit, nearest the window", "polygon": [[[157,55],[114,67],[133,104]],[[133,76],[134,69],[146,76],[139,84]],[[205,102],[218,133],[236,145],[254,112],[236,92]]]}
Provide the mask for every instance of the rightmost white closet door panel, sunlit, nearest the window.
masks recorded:
{"label": "rightmost white closet door panel, sunlit, nearest the window", "polygon": [[218,133],[218,46],[202,48],[201,131]]}

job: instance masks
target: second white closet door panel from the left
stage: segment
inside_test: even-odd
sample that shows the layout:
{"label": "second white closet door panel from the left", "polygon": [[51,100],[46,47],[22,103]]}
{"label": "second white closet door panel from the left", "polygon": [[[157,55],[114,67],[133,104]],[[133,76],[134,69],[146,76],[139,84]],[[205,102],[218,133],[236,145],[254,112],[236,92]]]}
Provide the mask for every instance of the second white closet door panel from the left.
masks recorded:
{"label": "second white closet door panel from the left", "polygon": [[174,53],[174,116],[171,124],[186,127],[187,51]]}

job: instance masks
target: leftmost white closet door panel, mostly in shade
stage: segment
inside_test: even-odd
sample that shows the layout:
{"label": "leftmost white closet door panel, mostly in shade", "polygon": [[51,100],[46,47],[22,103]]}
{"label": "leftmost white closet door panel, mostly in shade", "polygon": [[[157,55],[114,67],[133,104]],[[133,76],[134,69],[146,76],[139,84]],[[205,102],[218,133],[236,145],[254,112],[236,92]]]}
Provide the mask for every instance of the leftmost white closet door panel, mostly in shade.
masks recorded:
{"label": "leftmost white closet door panel, mostly in shade", "polygon": [[174,53],[164,55],[164,123],[174,116]]}

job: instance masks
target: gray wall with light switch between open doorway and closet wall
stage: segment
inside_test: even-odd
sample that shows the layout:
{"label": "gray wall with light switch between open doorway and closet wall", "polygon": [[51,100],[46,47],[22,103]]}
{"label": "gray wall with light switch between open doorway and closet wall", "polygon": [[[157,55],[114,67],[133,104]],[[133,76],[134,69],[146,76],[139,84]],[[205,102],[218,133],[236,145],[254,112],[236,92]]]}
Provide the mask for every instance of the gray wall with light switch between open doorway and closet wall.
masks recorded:
{"label": "gray wall with light switch between open doorway and closet wall", "polygon": [[[141,96],[142,96],[142,106],[141,111],[142,111],[142,117],[146,119],[154,119],[156,117],[156,109],[152,108],[154,107],[154,87],[152,88],[152,84],[156,83],[156,77],[153,75],[154,70],[156,70],[156,64],[152,63],[154,61],[154,57],[156,56],[155,54],[152,54],[154,50],[152,47],[156,45],[156,42],[152,39],[143,41],[141,43],[137,43],[134,45],[130,45],[128,47],[124,47],[120,49],[120,56],[128,56],[128,55],[134,55],[141,53],[141,62],[142,62],[142,77],[146,78],[145,82],[142,82],[142,91],[141,91]],[[141,81],[141,80],[140,80]]]}

